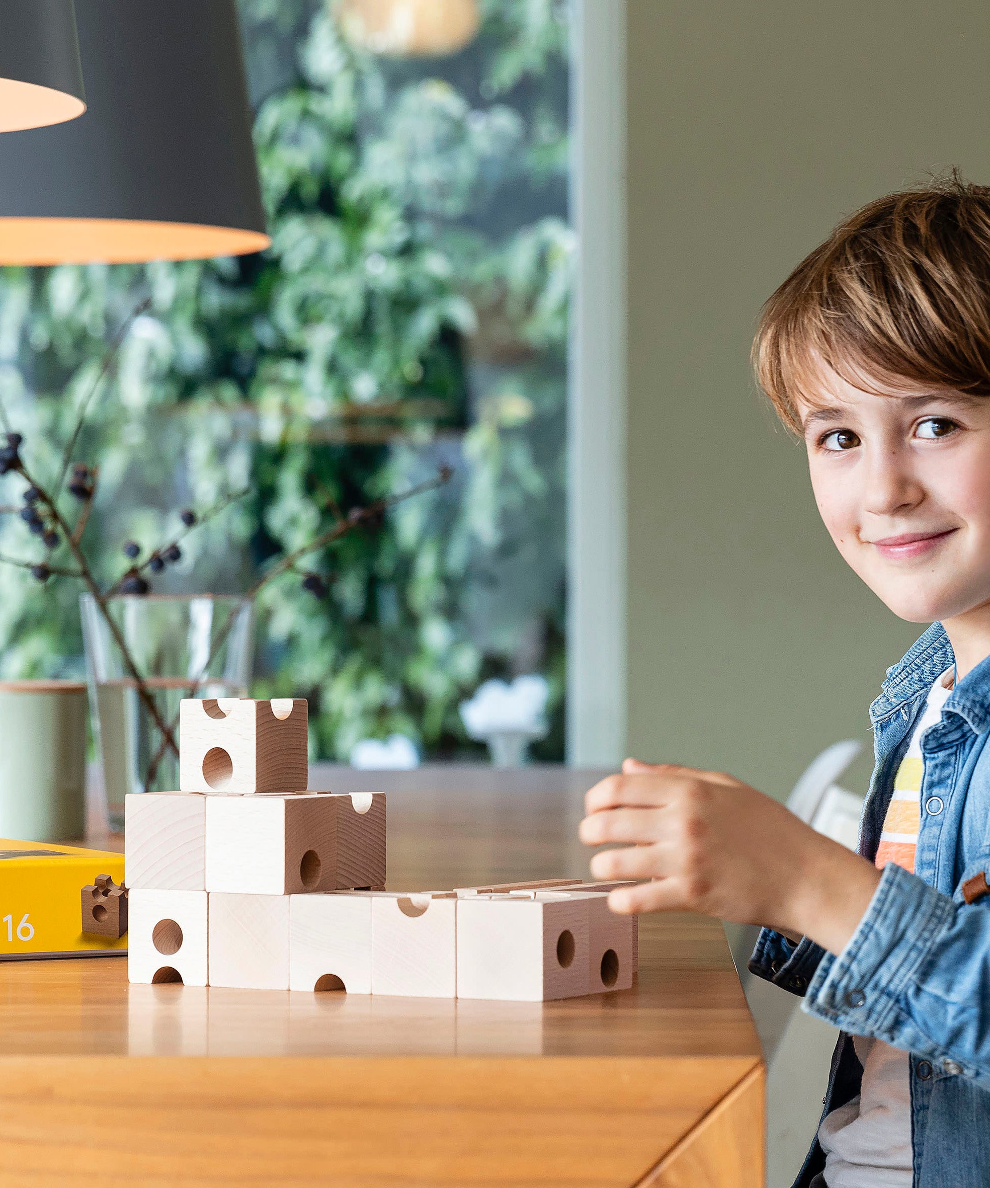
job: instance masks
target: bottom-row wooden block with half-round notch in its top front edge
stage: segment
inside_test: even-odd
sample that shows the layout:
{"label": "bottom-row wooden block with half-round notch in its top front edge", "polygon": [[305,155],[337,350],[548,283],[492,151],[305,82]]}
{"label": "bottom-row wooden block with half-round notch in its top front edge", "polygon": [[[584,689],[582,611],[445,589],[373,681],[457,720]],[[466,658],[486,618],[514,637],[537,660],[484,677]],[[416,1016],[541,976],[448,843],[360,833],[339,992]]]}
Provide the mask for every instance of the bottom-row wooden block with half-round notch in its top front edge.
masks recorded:
{"label": "bottom-row wooden block with half-round notch in its top front edge", "polygon": [[372,901],[372,993],[457,994],[457,896],[382,892]]}

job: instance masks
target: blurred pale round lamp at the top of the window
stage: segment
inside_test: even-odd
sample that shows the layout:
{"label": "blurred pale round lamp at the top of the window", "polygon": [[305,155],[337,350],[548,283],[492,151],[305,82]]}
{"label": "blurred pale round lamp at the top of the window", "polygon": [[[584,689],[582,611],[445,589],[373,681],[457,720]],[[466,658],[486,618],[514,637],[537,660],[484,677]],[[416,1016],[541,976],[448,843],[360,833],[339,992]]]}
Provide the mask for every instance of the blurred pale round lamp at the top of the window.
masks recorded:
{"label": "blurred pale round lamp at the top of the window", "polygon": [[481,23],[477,0],[337,0],[336,15],[351,45],[394,57],[456,53]]}

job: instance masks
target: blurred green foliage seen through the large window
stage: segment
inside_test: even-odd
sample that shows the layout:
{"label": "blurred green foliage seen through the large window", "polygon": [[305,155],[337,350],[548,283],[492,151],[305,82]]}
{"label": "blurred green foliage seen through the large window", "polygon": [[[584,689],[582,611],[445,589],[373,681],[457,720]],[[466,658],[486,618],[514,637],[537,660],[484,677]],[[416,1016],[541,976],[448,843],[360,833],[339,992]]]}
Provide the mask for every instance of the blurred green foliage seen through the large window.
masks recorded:
{"label": "blurred green foliage seen through the large window", "polygon": [[[354,51],[311,0],[241,0],[271,249],[0,271],[0,397],[49,470],[151,298],[77,450],[108,573],[123,539],[247,485],[156,586],[235,592],[335,508],[455,468],[316,558],[326,600],[292,575],[265,592],[253,691],[309,696],[324,757],[396,731],[467,753],[459,701],[516,671],[550,680],[537,753],[563,756],[566,10],[483,11],[461,53],[404,62]],[[0,552],[36,548],[0,518]],[[0,567],[2,675],[78,668],[77,593]]]}

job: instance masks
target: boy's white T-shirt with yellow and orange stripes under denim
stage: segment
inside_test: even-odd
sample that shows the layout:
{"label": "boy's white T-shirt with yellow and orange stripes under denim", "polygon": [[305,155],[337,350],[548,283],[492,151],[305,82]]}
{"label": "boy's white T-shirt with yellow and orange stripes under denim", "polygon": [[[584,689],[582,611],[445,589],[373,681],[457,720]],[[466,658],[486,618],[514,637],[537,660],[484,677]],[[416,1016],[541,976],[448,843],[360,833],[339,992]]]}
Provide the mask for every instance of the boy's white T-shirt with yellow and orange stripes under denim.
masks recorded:
{"label": "boy's white T-shirt with yellow and orange stripes under denim", "polygon": [[[951,685],[952,669],[947,669],[929,689],[897,767],[876,855],[878,866],[896,861],[914,870],[924,771],[921,735],[941,719]],[[812,1181],[812,1188],[912,1188],[908,1054],[868,1036],[853,1036],[852,1044],[863,1066],[859,1095],[823,1119],[818,1142],[825,1152],[825,1170]]]}

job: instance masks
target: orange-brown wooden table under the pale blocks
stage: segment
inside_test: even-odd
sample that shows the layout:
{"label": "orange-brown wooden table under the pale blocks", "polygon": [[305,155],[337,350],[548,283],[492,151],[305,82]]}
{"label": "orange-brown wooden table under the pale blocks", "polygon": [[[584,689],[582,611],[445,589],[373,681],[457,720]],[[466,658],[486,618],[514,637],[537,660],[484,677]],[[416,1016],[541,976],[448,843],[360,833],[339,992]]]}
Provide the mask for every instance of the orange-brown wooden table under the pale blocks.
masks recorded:
{"label": "orange-brown wooden table under the pale blocks", "polygon": [[[370,786],[330,775],[311,786]],[[376,777],[389,886],[584,877],[592,779]],[[647,917],[640,954],[632,990],[546,1005],[0,965],[0,1183],[762,1188],[764,1068],[721,925]]]}

